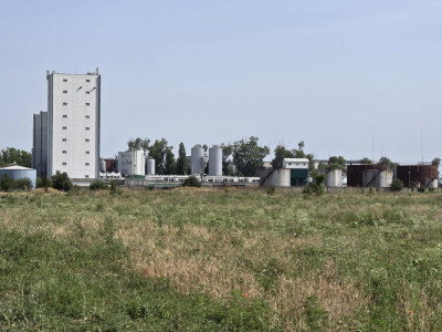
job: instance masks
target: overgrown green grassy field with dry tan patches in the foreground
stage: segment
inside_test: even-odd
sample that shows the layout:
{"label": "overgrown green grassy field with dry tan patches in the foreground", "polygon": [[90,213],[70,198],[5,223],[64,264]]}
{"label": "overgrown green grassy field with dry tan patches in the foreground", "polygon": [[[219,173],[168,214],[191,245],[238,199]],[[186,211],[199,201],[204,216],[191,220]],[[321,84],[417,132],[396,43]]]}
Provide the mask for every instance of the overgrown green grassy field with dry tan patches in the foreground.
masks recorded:
{"label": "overgrown green grassy field with dry tan patches in the foreground", "polygon": [[0,330],[442,331],[442,194],[0,195]]}

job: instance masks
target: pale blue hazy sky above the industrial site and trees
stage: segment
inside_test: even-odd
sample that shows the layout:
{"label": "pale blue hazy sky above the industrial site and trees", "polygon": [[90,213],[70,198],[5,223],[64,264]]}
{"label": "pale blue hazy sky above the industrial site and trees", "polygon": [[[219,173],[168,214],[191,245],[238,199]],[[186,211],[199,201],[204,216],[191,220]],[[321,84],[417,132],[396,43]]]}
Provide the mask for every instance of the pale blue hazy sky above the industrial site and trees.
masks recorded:
{"label": "pale blue hazy sky above the industrial site and trees", "polygon": [[441,17],[439,0],[0,0],[0,149],[31,151],[46,70],[98,68],[102,157],[250,136],[322,159],[442,157]]}

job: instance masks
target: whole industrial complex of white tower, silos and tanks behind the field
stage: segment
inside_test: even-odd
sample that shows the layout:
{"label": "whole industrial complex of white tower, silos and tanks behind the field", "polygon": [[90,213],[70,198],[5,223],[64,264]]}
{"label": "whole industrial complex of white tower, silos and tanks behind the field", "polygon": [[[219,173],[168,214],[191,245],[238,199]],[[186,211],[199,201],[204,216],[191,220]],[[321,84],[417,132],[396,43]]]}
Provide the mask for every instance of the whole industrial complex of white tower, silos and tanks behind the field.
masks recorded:
{"label": "whole industrial complex of white tower, silos and tanks behind the field", "polygon": [[[0,168],[0,175],[49,178],[56,172],[66,173],[77,185],[92,180],[119,179],[128,186],[170,187],[188,176],[197,176],[207,186],[303,187],[311,172],[326,174],[328,188],[388,188],[393,178],[406,187],[436,188],[438,166],[427,164],[387,165],[346,162],[343,167],[328,167],[327,160],[283,158],[280,167],[264,163],[259,177],[223,174],[222,147],[196,145],[187,156],[188,175],[156,174],[156,159],[145,149],[118,152],[115,158],[101,158],[101,75],[98,69],[86,74],[46,72],[48,110],[33,114],[33,169],[19,166]],[[186,174],[185,173],[185,174]]]}

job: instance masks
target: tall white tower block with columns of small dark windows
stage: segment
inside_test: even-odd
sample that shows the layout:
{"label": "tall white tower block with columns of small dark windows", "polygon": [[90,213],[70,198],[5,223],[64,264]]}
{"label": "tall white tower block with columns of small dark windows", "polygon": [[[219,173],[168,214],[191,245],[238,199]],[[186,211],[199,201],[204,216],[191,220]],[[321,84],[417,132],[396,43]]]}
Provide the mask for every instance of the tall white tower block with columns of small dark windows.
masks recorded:
{"label": "tall white tower block with columns of small dark windows", "polygon": [[101,76],[49,71],[48,176],[56,170],[70,178],[98,178]]}

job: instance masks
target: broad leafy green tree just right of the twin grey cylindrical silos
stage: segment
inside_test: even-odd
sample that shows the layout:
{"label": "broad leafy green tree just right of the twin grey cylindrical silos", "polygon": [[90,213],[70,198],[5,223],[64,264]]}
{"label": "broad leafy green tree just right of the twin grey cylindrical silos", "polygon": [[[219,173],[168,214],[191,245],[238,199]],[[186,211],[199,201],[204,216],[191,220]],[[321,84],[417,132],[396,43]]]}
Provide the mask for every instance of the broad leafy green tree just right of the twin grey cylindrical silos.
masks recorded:
{"label": "broad leafy green tree just right of the twin grey cylindrical silos", "polygon": [[257,176],[264,165],[264,157],[269,155],[267,146],[259,146],[259,138],[251,136],[248,141],[241,139],[233,144],[233,164],[243,176]]}

